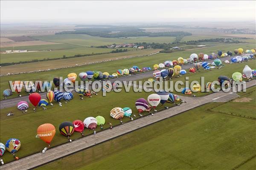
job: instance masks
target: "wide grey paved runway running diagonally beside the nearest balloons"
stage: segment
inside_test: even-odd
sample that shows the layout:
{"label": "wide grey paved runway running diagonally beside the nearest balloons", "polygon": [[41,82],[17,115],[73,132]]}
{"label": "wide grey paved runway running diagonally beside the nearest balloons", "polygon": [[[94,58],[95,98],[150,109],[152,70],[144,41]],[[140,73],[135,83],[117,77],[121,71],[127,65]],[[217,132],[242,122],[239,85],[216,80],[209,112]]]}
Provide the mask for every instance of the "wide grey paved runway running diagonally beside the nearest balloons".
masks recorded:
{"label": "wide grey paved runway running diagonally beside the nearest balloons", "polygon": [[[247,88],[254,85],[256,85],[255,79],[247,82]],[[96,135],[86,136],[80,139],[73,140],[72,142],[53,147],[47,150],[46,153],[35,153],[20,160],[12,161],[8,164],[2,165],[1,170],[33,169],[35,167],[42,166],[44,164],[64,158],[79,151],[86,150],[87,148],[93,147],[97,144],[101,144],[103,142],[115,139],[127,133],[131,133],[134,130],[138,130],[161,120],[168,119],[172,116],[204,105],[206,103],[213,101],[227,102],[237,97],[238,95],[236,94],[236,92],[225,93],[223,91],[196,98],[182,96],[182,99],[185,100],[186,103],[183,103],[180,106],[175,106],[173,108],[157,112],[154,114],[154,116],[150,115],[140,119],[135,119],[134,121],[130,121],[123,125],[113,127],[112,130],[103,130],[101,132],[98,132]]]}

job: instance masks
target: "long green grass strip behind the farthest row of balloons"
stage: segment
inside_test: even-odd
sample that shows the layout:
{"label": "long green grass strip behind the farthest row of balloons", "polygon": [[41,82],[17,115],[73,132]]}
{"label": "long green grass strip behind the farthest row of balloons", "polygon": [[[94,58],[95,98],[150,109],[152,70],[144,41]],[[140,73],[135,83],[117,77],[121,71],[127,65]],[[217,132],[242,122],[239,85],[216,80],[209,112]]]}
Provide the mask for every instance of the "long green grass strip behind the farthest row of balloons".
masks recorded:
{"label": "long green grass strip behind the farthest row of balloons", "polygon": [[[123,69],[123,68],[129,68],[133,65],[138,65],[140,68],[148,66],[152,67],[154,64],[159,64],[161,62],[164,62],[166,60],[173,60],[177,59],[178,57],[184,57],[187,58],[189,57],[190,54],[192,53],[197,53],[199,54],[200,52],[204,52],[205,54],[209,54],[212,52],[216,52],[219,49],[222,51],[228,51],[230,49],[235,49],[238,47],[242,47],[244,49],[250,49],[252,48],[253,44],[244,44],[244,45],[227,45],[223,47],[213,47],[213,48],[204,48],[204,49],[199,49],[199,50],[193,50],[193,51],[180,51],[180,52],[175,52],[171,54],[156,54],[152,56],[146,56],[146,57],[137,57],[137,58],[131,58],[131,59],[122,59],[122,60],[116,60],[116,61],[111,61],[111,62],[102,62],[102,63],[97,63],[97,64],[92,64],[92,65],[85,65],[81,67],[75,67],[75,68],[65,68],[61,70],[54,70],[54,71],[47,71],[47,72],[38,72],[38,73],[32,73],[32,74],[20,74],[20,75],[13,75],[13,76],[6,76],[6,77],[1,77],[0,79],[0,91],[3,91],[6,88],[9,87],[8,81],[15,81],[15,80],[23,80],[26,77],[26,80],[52,80],[54,77],[59,77],[63,76],[66,77],[67,74],[75,72],[79,74],[82,71],[88,71],[88,70],[97,70],[97,71],[102,71],[102,72],[109,72],[113,73],[116,72],[118,69]],[[78,57],[74,59],[82,59],[83,57]],[[38,62],[39,64],[43,64],[44,62]],[[54,63],[54,61],[52,62]],[[32,63],[35,65],[35,63]],[[9,66],[8,66],[9,67]],[[4,69],[5,67],[1,68]],[[10,67],[12,68],[12,67]],[[253,67],[252,67],[253,68]],[[13,68],[14,69],[14,68]],[[51,75],[49,77],[49,75]],[[15,95],[13,95],[15,96]],[[11,97],[13,97],[11,96]],[[3,99],[3,96],[0,96],[0,99]]]}

